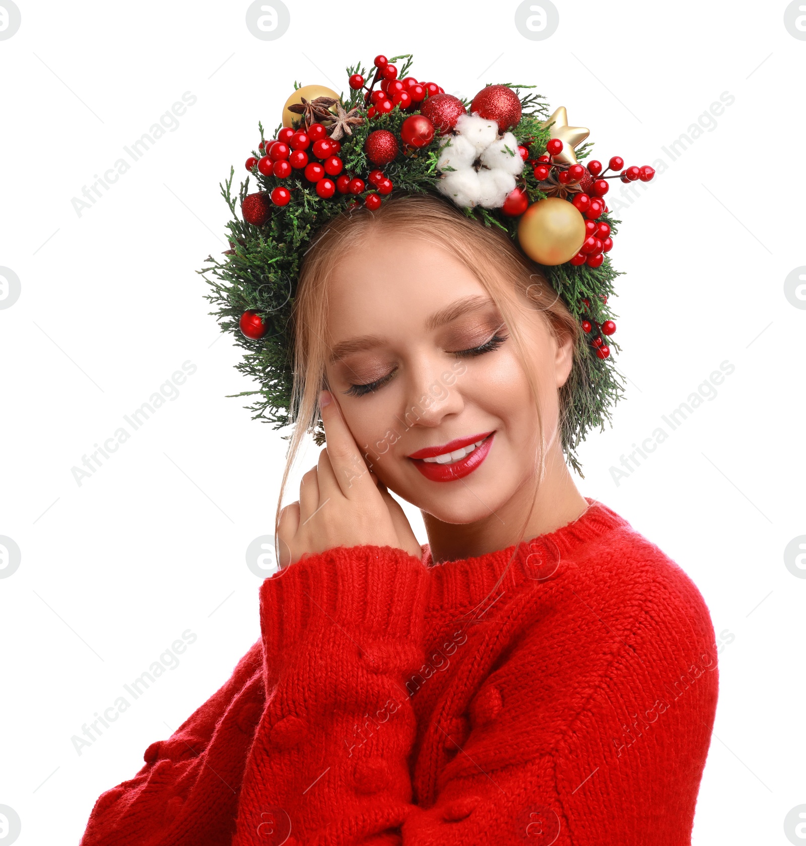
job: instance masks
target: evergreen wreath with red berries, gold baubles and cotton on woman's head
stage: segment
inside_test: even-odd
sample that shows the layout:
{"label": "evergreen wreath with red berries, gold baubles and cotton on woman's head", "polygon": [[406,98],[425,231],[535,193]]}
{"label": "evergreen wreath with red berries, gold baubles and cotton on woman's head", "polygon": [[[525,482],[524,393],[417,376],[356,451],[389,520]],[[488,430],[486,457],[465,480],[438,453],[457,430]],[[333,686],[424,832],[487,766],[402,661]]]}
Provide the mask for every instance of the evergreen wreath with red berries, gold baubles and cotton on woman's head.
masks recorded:
{"label": "evergreen wreath with red berries, gold baubles and cotton on woman's head", "polygon": [[233,196],[233,168],[220,186],[233,216],[230,249],[200,273],[212,286],[211,313],[244,348],[239,371],[260,383],[234,396],[255,396],[253,419],[293,423],[293,301],[315,233],[361,204],[371,211],[397,193],[437,194],[504,230],[580,322],[562,420],[562,447],[579,471],[576,448],[593,427],[604,430],[624,389],[612,359],[608,301],[619,273],[607,254],[619,221],[608,213],[607,180],[655,172],[617,156],[580,163],[588,129],[569,126],[564,107],[550,115],[534,85],[485,85],[462,100],[408,75],[411,62],[377,56],[369,74],[348,68],[348,96],[295,83],[282,124],[270,139],[259,124],[246,160],[257,190],[249,193],[247,177]]}

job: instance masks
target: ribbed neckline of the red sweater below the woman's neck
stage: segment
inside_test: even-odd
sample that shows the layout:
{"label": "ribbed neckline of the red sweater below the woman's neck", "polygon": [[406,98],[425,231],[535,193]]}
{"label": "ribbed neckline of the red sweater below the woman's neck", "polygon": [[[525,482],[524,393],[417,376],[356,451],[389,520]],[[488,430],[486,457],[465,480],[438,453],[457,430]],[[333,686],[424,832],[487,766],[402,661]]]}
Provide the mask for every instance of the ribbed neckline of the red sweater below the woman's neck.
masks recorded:
{"label": "ribbed neckline of the red sweater below the woman's neck", "polygon": [[[627,520],[598,500],[584,497],[588,509],[571,523],[532,538],[516,547],[513,545],[479,558],[459,558],[441,564],[431,563],[430,548],[423,547],[423,563],[432,575],[431,607],[471,606],[483,602],[506,570],[502,589],[511,590],[525,581],[546,584],[562,576],[563,560],[573,560],[579,547],[606,535]],[[514,560],[510,564],[510,559]],[[507,567],[508,565],[508,567]],[[491,597],[491,600],[494,598]]]}

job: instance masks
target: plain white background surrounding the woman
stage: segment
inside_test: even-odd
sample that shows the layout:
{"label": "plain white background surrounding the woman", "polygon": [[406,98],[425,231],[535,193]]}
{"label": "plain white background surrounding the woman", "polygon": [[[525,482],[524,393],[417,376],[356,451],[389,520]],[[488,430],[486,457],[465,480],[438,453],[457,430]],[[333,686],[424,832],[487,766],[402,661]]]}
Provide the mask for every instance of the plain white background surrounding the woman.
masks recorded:
{"label": "plain white background surrounding the woman", "polygon": [[[22,286],[0,310],[0,535],[22,551],[0,580],[0,805],[18,842],[77,843],[96,797],[258,639],[244,551],[272,530],[285,442],[225,398],[252,386],[195,274],[227,249],[217,185],[231,164],[244,178],[294,80],[346,90],[348,63],[414,52],[414,76],[449,92],[535,83],[604,161],[666,162],[618,215],[628,399],[584,444],[578,486],[683,567],[724,633],[694,843],[787,843],[806,803],[806,580],[783,560],[806,534],[806,310],[783,293],[806,265],[806,41],[786,4],[557,0],[545,41],[518,33],[511,2],[288,0],[277,41],[249,33],[247,5],[19,0],[0,41],[0,265]],[[185,91],[198,102],[178,129],[79,217],[71,198]],[[672,162],[662,147],[722,92],[735,102]],[[71,468],[187,360],[180,396],[79,486]],[[726,360],[716,398],[617,485],[622,453]],[[78,755],[82,724],[185,629],[198,640],[178,667]]]}

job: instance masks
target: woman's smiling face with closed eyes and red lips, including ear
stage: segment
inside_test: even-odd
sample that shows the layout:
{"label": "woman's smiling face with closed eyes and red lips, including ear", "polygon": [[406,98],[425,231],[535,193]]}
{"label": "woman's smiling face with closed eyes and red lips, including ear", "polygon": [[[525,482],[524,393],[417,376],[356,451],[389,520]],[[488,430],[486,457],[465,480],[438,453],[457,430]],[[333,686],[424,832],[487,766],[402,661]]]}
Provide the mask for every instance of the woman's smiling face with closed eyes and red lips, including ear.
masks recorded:
{"label": "woman's smiling face with closed eyes and red lips, including ear", "polygon": [[[507,325],[446,250],[377,233],[339,259],[328,291],[328,383],[370,470],[446,523],[501,509],[534,477],[538,421]],[[572,365],[526,299],[546,442]]]}

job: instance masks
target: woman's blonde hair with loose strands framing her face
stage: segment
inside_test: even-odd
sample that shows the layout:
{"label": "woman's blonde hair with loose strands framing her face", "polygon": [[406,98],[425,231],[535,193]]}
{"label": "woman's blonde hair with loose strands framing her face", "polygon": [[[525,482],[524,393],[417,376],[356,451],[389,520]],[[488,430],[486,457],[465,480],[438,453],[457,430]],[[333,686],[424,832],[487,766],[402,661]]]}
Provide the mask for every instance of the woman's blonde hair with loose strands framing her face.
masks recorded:
{"label": "woman's blonde hair with loose strands framing her face", "polygon": [[[535,454],[536,499],[537,486],[545,468],[546,445],[535,371],[523,334],[518,330],[517,312],[518,308],[523,308],[525,298],[544,317],[555,338],[559,340],[570,336],[573,339],[575,356],[580,337],[578,323],[551,288],[539,266],[518,250],[507,233],[467,217],[450,202],[436,195],[401,195],[390,198],[377,211],[368,211],[362,206],[334,218],[321,233],[311,239],[310,250],[304,257],[293,305],[292,416],[296,426],[282,476],[277,521],[288,475],[306,432],[314,429],[319,420],[319,393],[326,387],[325,363],[329,352],[326,333],[327,294],[328,282],[336,264],[333,256],[358,249],[370,234],[390,230],[405,232],[446,250],[474,274],[500,310],[524,366],[537,410],[540,448]],[[571,382],[569,377],[559,391],[558,431],[562,431],[563,420],[569,413]],[[531,510],[521,536],[530,516]]]}

